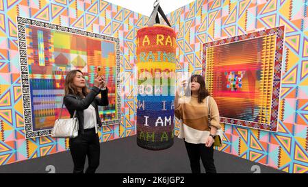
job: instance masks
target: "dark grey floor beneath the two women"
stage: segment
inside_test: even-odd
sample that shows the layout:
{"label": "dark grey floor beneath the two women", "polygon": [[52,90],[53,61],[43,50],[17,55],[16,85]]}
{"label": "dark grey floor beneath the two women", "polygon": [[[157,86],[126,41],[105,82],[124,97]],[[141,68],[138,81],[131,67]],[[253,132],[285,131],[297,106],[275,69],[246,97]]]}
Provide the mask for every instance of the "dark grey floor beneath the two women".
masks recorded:
{"label": "dark grey floor beneath the two women", "polygon": [[[214,152],[214,160],[218,173],[254,173],[252,167],[259,167],[260,173],[283,173],[220,151]],[[68,151],[0,166],[0,173],[72,171],[73,161]],[[204,173],[204,169],[202,171]],[[136,136],[130,136],[101,143],[101,164],[97,173],[190,173],[190,163],[183,140],[179,138],[175,138],[175,144],[169,149],[149,151],[136,145]]]}

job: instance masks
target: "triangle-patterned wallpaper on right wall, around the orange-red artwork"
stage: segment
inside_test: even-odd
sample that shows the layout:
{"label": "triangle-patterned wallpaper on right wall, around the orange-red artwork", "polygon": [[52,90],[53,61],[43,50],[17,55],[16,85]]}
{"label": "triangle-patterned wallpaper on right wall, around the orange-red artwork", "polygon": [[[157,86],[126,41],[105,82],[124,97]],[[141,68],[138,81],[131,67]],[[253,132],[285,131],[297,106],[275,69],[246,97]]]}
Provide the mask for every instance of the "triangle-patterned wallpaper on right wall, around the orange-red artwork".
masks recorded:
{"label": "triangle-patterned wallpaper on right wall, around the orange-red artwork", "polygon": [[287,173],[308,173],[307,1],[196,0],[167,17],[177,33],[177,73],[203,74],[205,43],[285,27],[277,132],[222,123],[218,150]]}

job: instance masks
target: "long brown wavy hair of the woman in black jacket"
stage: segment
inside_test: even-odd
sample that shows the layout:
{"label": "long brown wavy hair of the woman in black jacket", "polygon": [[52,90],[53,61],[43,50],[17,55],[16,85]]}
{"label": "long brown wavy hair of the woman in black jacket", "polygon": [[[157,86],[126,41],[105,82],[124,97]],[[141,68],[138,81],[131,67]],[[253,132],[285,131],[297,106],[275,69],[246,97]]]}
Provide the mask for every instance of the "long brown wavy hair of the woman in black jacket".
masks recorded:
{"label": "long brown wavy hair of the woman in black jacket", "polygon": [[89,89],[87,88],[87,86],[82,88],[82,92],[78,92],[77,87],[74,85],[74,78],[75,78],[77,72],[84,75],[84,73],[82,73],[78,69],[72,70],[72,71],[68,72],[68,74],[66,75],[65,84],[64,84],[65,95],[71,94],[71,95],[77,95],[77,96],[80,96],[80,97],[82,95],[84,95],[84,96],[88,95]]}

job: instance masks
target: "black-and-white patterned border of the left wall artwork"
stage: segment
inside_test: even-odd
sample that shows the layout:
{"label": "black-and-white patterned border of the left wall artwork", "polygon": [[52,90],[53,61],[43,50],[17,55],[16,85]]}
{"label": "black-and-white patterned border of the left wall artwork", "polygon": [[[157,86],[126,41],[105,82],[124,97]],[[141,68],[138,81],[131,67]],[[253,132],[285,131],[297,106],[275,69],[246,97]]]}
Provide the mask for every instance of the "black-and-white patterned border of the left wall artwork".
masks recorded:
{"label": "black-and-white patterned border of the left wall artwork", "polygon": [[66,32],[70,34],[77,34],[81,36],[88,36],[92,38],[99,38],[103,40],[108,40],[111,42],[116,42],[116,110],[117,118],[112,121],[102,121],[103,125],[119,125],[121,123],[121,113],[120,113],[120,40],[112,36],[104,36],[101,34],[94,34],[91,32],[86,32],[79,29],[73,29],[70,27],[64,27],[61,25],[55,25],[51,23],[45,23],[42,21],[36,21],[30,18],[23,18],[17,16],[18,24],[18,49],[20,55],[21,64],[21,87],[23,92],[23,113],[25,121],[25,138],[36,138],[40,136],[49,136],[51,134],[51,129],[40,129],[34,130],[32,124],[32,112],[31,112],[31,97],[30,97],[30,86],[29,86],[29,70],[27,61],[27,40],[25,25],[33,25],[36,27],[42,27],[47,29],[53,29],[61,32]]}

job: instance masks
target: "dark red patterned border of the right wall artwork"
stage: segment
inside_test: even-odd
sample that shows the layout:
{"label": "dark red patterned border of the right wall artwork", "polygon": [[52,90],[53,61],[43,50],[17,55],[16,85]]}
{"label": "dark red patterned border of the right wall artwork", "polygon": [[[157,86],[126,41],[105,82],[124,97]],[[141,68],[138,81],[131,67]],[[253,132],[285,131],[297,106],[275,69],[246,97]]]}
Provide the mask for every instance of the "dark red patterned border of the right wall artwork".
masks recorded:
{"label": "dark red patterned border of the right wall artwork", "polygon": [[[224,38],[222,40],[216,40],[213,42],[207,42],[203,44],[203,75],[205,75],[205,79],[207,80],[207,85],[211,84],[212,79],[208,77],[213,73],[209,73],[213,65],[207,64],[207,53],[209,53],[209,49],[213,47],[217,47],[220,45],[226,45],[232,42],[239,42],[242,40],[249,40],[253,38],[259,38],[264,36],[272,36],[274,37],[275,48],[274,48],[274,60],[273,62],[273,77],[272,77],[272,93],[270,95],[270,114],[268,114],[270,120],[268,123],[256,123],[255,121],[244,121],[241,119],[231,119],[227,117],[220,116],[220,122],[231,124],[231,125],[240,125],[245,127],[251,127],[253,129],[262,129],[270,132],[277,132],[278,130],[278,121],[279,121],[279,97],[281,91],[281,70],[282,70],[282,62],[283,62],[283,45],[284,45],[284,26],[273,27],[270,29],[264,29],[258,32],[243,34],[240,36],[233,36],[231,38]],[[209,61],[209,60],[208,60]],[[211,63],[211,62],[208,62]],[[213,64],[213,63],[211,63]],[[209,66],[210,65],[210,66]],[[208,68],[208,71],[206,70]],[[207,71],[207,72],[206,72]],[[207,74],[206,74],[207,73]],[[211,92],[209,90],[209,92]]]}

